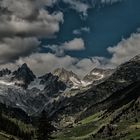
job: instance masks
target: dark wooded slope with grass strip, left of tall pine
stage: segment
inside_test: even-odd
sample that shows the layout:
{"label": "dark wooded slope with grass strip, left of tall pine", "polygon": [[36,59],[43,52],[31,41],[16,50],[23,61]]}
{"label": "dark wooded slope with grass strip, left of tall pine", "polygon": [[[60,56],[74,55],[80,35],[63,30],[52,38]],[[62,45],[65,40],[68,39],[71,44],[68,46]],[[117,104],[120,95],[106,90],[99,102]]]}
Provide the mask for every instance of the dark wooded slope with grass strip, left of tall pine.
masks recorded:
{"label": "dark wooded slope with grass strip, left of tall pine", "polygon": [[34,129],[29,119],[24,111],[0,104],[0,140],[31,140]]}

